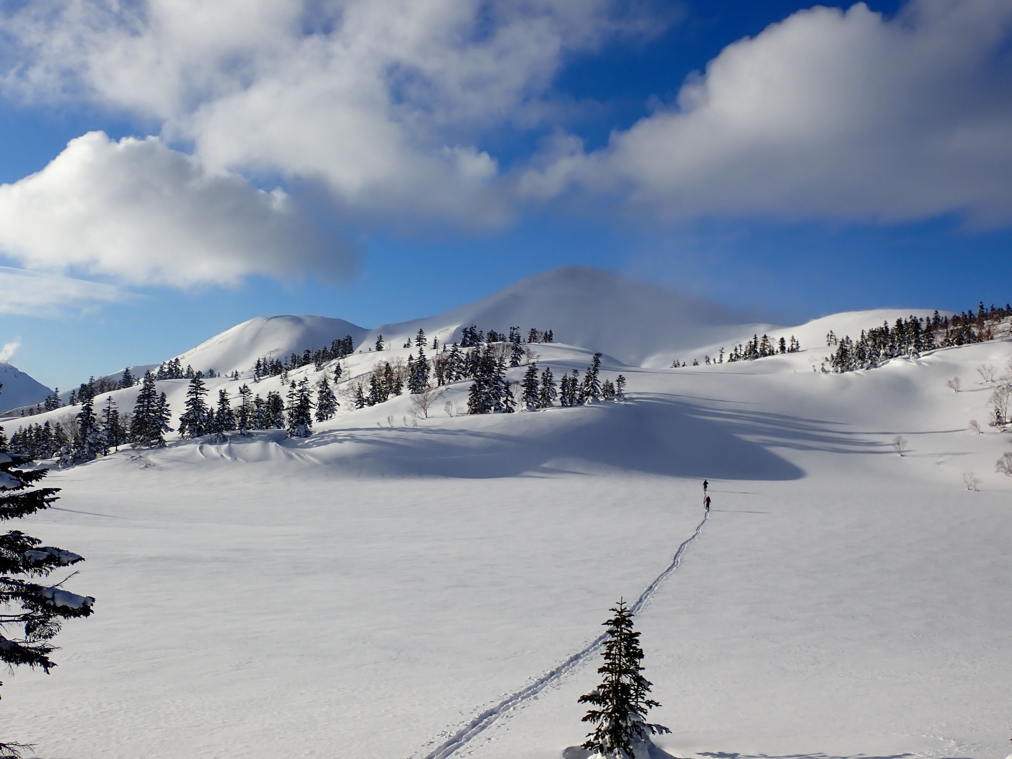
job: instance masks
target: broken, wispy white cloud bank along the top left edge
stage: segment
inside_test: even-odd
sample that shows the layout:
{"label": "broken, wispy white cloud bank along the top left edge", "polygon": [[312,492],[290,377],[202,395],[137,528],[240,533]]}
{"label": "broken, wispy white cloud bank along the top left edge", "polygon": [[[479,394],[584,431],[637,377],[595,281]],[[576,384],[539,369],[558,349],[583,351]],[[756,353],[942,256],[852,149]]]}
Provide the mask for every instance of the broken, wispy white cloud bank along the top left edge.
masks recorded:
{"label": "broken, wispy white cloud bank along the top left edge", "polygon": [[212,171],[323,180],[384,222],[510,218],[477,143],[537,125],[574,51],[655,33],[617,0],[69,0],[0,21],[6,86],[153,117]]}

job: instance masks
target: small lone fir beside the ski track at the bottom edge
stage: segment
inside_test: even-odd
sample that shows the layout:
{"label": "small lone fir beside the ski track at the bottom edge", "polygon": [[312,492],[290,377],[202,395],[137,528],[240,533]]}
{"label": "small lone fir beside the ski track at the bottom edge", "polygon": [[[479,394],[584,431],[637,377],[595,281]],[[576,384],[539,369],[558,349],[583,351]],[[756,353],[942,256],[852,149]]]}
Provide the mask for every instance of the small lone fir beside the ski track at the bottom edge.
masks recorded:
{"label": "small lone fir beside the ski track at the bottom edge", "polygon": [[632,612],[621,600],[611,611],[614,616],[604,622],[604,664],[597,670],[604,678],[579,700],[591,704],[583,722],[595,726],[583,748],[608,759],[632,759],[637,746],[651,735],[671,731],[646,721],[650,708],[661,704],[648,697],[651,683],[641,674],[643,649],[640,634],[632,629]]}

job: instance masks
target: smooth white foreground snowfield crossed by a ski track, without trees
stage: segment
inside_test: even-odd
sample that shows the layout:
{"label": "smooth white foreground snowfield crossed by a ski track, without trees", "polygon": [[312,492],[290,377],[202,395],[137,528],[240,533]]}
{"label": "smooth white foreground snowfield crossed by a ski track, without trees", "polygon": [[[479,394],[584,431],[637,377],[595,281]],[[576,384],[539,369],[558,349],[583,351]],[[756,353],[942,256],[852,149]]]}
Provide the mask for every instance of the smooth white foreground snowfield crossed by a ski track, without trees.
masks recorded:
{"label": "smooth white foreground snowfield crossed by a ski track, without trees", "polygon": [[[590,359],[536,350],[557,376]],[[460,383],[417,426],[401,397],[342,406],[304,440],[172,441],[54,471],[63,497],[24,529],[86,557],[66,588],[95,614],[61,632],[52,675],[3,678],[4,737],[50,759],[423,759],[492,711],[450,756],[558,759],[587,732],[576,700],[598,660],[545,675],[672,565],[707,478],[709,519],[637,614],[652,719],[673,731],[659,746],[1000,757],[1012,479],[994,462],[1012,436],[967,422],[991,393],[975,367],[1012,343],[842,375],[812,370],[826,352],[607,359],[625,404],[447,416]],[[176,415],[185,385],[159,383]],[[208,381],[209,398],[237,387]]]}

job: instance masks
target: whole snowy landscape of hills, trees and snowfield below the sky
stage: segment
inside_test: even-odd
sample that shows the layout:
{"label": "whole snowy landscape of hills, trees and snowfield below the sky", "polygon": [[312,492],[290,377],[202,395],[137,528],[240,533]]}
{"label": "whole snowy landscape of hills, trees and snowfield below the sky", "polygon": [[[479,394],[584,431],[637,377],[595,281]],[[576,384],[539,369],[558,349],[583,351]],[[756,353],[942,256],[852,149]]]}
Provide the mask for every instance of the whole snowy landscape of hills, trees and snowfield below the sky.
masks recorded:
{"label": "whole snowy landscape of hills, trees and snowfield below the sky", "polygon": [[251,319],[67,398],[4,380],[46,400],[0,462],[61,489],[17,561],[73,545],[94,597],[29,599],[89,618],[4,678],[0,742],[998,757],[1010,324],[776,326],[564,267],[372,329]]}

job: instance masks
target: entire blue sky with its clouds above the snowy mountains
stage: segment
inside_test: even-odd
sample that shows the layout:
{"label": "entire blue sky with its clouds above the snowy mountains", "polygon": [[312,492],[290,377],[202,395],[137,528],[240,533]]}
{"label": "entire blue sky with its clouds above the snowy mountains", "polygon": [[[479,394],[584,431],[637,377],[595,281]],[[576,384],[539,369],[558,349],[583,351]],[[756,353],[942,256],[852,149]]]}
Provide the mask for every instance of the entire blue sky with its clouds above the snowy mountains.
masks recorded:
{"label": "entire blue sky with its clouds above the snowy mountains", "polygon": [[1001,0],[0,7],[0,345],[51,387],[570,263],[783,322],[1012,297]]}

